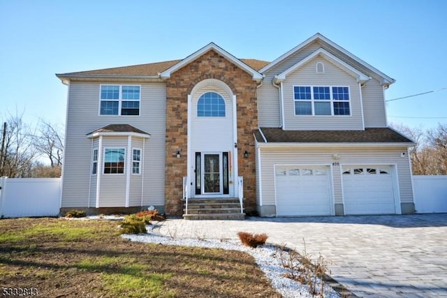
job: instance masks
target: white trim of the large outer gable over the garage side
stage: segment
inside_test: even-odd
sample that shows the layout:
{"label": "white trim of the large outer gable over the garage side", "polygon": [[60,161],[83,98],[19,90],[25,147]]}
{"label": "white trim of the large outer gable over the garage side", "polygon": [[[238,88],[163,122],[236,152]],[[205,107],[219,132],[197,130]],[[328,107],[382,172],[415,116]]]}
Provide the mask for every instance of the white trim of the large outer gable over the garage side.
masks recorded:
{"label": "white trim of the large outer gable over the garage side", "polygon": [[345,50],[343,47],[340,47],[339,45],[337,45],[337,43],[332,42],[332,40],[329,40],[328,38],[323,36],[321,33],[316,33],[314,36],[312,36],[312,37],[308,38],[307,40],[305,40],[304,42],[300,43],[299,45],[294,47],[292,50],[286,52],[285,54],[281,55],[281,57],[278,57],[274,61],[270,62],[270,64],[268,64],[268,65],[264,66],[263,68],[261,68],[259,70],[259,72],[260,73],[265,73],[266,71],[270,70],[270,68],[273,68],[277,64],[281,63],[281,61],[284,61],[284,59],[287,59],[288,57],[291,57],[291,55],[293,55],[296,52],[302,50],[302,48],[306,47],[307,45],[309,45],[310,43],[313,43],[316,40],[321,41],[321,42],[323,42],[323,43],[325,43],[327,45],[330,45],[330,47],[333,47],[335,50],[341,52],[342,54],[345,54],[350,59],[353,59],[353,61],[355,61],[357,64],[360,64],[360,66],[363,66],[364,68],[367,68],[372,73],[375,73],[376,75],[381,77],[383,85],[388,86],[388,85],[393,84],[395,82],[395,80],[392,77],[388,77],[388,75],[382,73],[380,70],[378,70],[378,69],[374,68],[373,66],[367,64],[365,61],[363,61],[362,59],[356,57],[356,55],[352,54],[351,52]]}

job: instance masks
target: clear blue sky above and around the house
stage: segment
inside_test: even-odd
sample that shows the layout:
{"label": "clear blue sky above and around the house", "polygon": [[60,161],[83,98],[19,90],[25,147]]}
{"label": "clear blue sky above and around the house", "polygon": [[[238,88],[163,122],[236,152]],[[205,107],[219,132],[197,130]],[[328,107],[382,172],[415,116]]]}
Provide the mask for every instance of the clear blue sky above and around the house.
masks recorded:
{"label": "clear blue sky above and around the house", "polygon": [[183,59],[212,41],[272,61],[316,32],[395,78],[386,99],[434,91],[387,103],[389,122],[447,123],[443,0],[0,0],[0,120],[64,124],[55,73]]}

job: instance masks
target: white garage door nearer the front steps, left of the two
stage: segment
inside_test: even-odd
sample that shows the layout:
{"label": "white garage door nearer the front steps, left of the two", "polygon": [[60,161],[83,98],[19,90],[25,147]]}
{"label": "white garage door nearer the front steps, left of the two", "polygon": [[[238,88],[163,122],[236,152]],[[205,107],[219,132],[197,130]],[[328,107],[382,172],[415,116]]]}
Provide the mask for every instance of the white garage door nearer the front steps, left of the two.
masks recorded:
{"label": "white garage door nearer the front steps, left of the two", "polygon": [[277,216],[331,214],[329,167],[277,165],[275,171]]}

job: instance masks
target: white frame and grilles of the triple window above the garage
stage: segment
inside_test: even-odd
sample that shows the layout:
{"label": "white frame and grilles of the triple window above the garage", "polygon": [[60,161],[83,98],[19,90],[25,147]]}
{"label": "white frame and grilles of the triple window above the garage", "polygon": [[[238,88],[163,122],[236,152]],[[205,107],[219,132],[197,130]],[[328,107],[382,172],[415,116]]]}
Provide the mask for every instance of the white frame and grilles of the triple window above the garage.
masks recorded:
{"label": "white frame and grilles of the triple window above the garage", "polygon": [[[311,99],[295,99],[295,87],[310,87],[310,94],[311,94]],[[314,99],[314,87],[329,87],[329,94],[330,94],[330,99],[329,100],[315,100]],[[334,100],[332,99],[332,87],[346,87],[348,88],[348,93],[349,93],[349,100]],[[351,103],[351,88],[349,86],[344,86],[344,85],[307,85],[307,84],[300,84],[300,85],[293,85],[292,86],[292,98],[293,98],[293,114],[295,115],[295,117],[352,117],[352,103]],[[295,110],[295,103],[311,103],[311,108],[312,108],[312,114],[310,115],[299,115],[296,114],[296,110]],[[334,103],[349,103],[349,115],[335,115],[334,114]],[[314,103],[330,103],[330,115],[316,115],[315,114],[315,105]]]}

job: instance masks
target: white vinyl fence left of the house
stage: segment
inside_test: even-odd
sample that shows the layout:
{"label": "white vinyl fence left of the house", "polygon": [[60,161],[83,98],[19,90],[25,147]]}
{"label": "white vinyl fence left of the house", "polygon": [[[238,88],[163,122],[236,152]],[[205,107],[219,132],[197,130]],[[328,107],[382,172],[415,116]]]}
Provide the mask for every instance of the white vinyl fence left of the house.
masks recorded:
{"label": "white vinyl fence left of the house", "polygon": [[0,178],[0,218],[59,215],[61,178]]}

